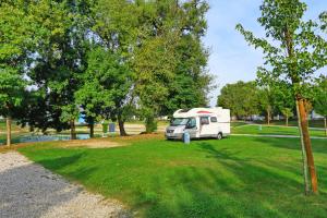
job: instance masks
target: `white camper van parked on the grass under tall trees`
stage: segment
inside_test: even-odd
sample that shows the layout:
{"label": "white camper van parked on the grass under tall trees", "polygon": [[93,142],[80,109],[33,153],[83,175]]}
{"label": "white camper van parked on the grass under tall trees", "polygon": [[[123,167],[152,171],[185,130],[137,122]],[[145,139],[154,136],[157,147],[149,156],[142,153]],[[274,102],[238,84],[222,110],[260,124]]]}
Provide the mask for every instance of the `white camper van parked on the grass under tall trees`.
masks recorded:
{"label": "white camper van parked on the grass under tall trees", "polygon": [[191,138],[215,137],[221,140],[230,134],[230,110],[222,108],[180,109],[173,113],[166,129],[168,140],[181,140],[185,132]]}

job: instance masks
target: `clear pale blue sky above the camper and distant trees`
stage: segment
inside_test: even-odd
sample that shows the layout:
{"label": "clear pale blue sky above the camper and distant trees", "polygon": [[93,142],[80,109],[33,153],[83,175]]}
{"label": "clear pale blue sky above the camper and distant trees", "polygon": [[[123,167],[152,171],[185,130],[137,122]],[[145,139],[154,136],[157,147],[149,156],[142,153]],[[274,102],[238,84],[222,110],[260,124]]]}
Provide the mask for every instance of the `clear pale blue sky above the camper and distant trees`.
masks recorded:
{"label": "clear pale blue sky above the camper and distant trees", "polygon": [[[204,44],[210,50],[208,70],[216,76],[218,88],[210,93],[210,105],[216,105],[220,88],[227,83],[255,78],[256,68],[263,63],[262,52],[247,46],[235,31],[241,23],[246,29],[263,36],[263,28],[256,22],[261,15],[262,0],[208,0],[208,31]],[[305,0],[308,10],[306,19],[316,20],[327,10],[327,0]]]}

